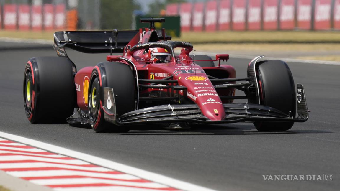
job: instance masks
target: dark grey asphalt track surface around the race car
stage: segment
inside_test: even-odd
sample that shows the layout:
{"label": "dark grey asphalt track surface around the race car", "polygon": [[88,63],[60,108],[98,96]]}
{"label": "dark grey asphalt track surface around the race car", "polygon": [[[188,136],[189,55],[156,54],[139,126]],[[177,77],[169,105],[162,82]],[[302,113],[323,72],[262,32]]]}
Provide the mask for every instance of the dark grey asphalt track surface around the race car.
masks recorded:
{"label": "dark grey asphalt track surface around the race car", "polygon": [[[6,47],[11,47],[6,49]],[[13,48],[14,47],[14,48]],[[252,123],[188,131],[145,126],[129,133],[31,124],[23,107],[23,72],[30,57],[56,56],[52,47],[0,42],[0,131],[99,156],[216,190],[339,190],[339,65],[288,63],[305,88],[309,119],[286,132],[257,132]],[[269,55],[268,55],[269,56]],[[70,53],[78,69],[103,54]],[[237,77],[250,59],[229,59]],[[56,79],[57,80],[57,79]],[[62,104],[51,100],[51,104]],[[332,175],[331,181],[266,181],[262,175]]]}

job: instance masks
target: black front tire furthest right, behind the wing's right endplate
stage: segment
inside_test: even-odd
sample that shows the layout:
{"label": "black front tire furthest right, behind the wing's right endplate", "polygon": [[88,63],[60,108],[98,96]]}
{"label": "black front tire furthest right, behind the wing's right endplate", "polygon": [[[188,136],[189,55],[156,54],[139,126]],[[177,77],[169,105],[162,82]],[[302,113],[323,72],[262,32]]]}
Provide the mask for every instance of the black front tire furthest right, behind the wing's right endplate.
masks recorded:
{"label": "black front tire furthest right, behind the wing's right endplate", "polygon": [[[281,60],[264,60],[257,65],[260,104],[295,117],[295,86],[288,65]],[[258,131],[286,131],[293,124],[294,122],[254,122]]]}

